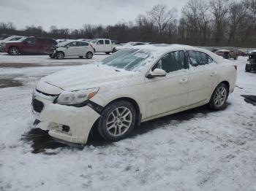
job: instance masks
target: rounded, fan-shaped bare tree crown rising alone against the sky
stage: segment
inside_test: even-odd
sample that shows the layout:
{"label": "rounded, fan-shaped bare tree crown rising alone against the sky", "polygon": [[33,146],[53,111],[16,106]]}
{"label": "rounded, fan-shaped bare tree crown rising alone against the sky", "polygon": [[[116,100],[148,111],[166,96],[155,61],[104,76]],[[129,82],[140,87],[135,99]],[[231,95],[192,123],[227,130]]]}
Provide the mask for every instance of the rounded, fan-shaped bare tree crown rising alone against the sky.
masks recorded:
{"label": "rounded, fan-shaped bare tree crown rising alone against the sky", "polygon": [[165,4],[157,4],[151,11],[147,12],[148,17],[150,17],[154,25],[158,28],[159,37],[162,37],[167,25],[176,20],[176,12],[176,9],[167,10]]}

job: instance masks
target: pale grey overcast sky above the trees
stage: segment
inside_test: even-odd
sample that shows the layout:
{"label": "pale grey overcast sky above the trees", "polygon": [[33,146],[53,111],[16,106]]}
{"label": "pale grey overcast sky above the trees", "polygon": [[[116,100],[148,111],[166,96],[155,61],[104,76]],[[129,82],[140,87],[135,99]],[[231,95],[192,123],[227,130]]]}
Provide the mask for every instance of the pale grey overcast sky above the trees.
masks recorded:
{"label": "pale grey overcast sky above the trees", "polygon": [[0,22],[17,28],[50,26],[82,28],[84,24],[116,24],[134,21],[155,4],[166,4],[178,11],[187,0],[0,0]]}

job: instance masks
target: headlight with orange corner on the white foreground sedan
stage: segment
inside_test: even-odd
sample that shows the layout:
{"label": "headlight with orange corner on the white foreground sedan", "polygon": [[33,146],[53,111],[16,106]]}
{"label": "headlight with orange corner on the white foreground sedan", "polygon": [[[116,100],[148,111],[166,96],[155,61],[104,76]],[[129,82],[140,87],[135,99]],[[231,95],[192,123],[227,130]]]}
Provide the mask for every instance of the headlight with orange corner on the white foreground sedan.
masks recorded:
{"label": "headlight with orange corner on the white foreground sedan", "polygon": [[83,102],[92,98],[98,92],[98,90],[99,87],[73,92],[64,91],[63,93],[61,93],[61,95],[59,95],[56,103],[69,106],[83,104]]}

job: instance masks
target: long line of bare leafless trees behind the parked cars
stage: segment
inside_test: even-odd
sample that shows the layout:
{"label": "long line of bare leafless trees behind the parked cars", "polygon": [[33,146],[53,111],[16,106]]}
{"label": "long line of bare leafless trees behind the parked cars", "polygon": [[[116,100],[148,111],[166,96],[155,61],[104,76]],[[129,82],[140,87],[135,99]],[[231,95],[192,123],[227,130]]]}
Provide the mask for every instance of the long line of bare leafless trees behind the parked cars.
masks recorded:
{"label": "long line of bare leafless trees behind the parked cars", "polygon": [[157,4],[134,21],[112,26],[85,24],[80,29],[0,23],[0,34],[53,39],[109,38],[120,42],[154,42],[194,46],[256,47],[256,0],[189,0],[176,8]]}

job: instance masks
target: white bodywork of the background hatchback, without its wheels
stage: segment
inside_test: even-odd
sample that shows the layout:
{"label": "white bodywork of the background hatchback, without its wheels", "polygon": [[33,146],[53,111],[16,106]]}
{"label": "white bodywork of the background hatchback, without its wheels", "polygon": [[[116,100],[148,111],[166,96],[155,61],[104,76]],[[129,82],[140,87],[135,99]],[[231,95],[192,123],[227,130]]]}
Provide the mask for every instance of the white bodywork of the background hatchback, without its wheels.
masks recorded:
{"label": "white bodywork of the background hatchback, without its wheels", "polygon": [[94,49],[88,42],[69,40],[67,42],[61,42],[58,44],[55,50],[53,50],[53,55],[55,55],[57,52],[64,52],[65,57],[86,56],[88,52],[91,52],[93,55]]}

